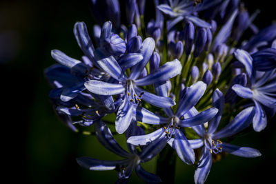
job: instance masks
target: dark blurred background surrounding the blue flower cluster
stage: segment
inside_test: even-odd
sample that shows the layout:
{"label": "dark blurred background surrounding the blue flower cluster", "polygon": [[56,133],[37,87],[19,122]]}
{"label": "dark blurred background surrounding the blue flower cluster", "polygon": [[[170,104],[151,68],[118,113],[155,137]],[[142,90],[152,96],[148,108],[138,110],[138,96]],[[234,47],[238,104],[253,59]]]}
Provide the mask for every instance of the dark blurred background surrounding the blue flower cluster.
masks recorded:
{"label": "dark blurred background surrounding the blue flower cluster", "polygon": [[[276,19],[272,1],[244,2],[251,14],[257,8],[261,10],[255,19],[259,28]],[[150,0],[148,4],[152,4]],[[146,10],[146,14],[153,13],[153,8]],[[50,87],[43,70],[55,63],[50,50],[59,49],[76,59],[82,56],[72,32],[76,21],[86,22],[92,34],[95,21],[88,0],[0,1],[1,168],[4,171],[1,175],[8,183],[114,183],[117,178],[114,171],[95,172],[77,165],[75,158],[79,156],[120,158],[103,149],[95,137],[65,127],[48,100]],[[226,156],[213,164],[206,183],[273,180],[275,130],[275,121],[270,121],[264,131],[240,136],[233,143],[255,147],[263,156],[256,159]],[[124,140],[121,136],[116,138]],[[155,160],[145,167],[155,172]],[[193,183],[194,170],[177,158],[175,182]],[[141,180],[134,174],[130,183]]]}

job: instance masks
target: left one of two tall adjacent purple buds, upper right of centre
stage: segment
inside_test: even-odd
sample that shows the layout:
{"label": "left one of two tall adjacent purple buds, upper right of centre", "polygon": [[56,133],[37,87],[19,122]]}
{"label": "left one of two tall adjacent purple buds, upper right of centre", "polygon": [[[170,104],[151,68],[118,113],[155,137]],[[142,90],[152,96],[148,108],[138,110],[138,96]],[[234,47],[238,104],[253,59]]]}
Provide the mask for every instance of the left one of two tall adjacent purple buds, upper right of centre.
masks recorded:
{"label": "left one of two tall adjacent purple buds, upper right of centre", "polygon": [[194,39],[195,39],[195,26],[193,25],[193,23],[189,21],[188,23],[186,23],[184,28],[184,41],[185,41],[184,49],[185,49],[186,55],[190,54],[190,51],[193,48]]}

